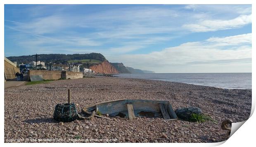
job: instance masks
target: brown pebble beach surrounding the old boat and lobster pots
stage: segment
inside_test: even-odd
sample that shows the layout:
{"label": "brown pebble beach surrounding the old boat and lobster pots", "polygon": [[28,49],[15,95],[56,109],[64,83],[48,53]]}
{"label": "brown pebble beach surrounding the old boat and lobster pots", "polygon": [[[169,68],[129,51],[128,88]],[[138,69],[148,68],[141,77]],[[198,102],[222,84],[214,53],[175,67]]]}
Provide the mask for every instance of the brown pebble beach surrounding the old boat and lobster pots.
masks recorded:
{"label": "brown pebble beach surrounding the old boat and lobster pots", "polygon": [[[199,107],[218,122],[165,122],[149,118],[112,121],[95,118],[59,126],[52,119],[52,114],[57,103],[66,103],[67,89],[71,89],[72,101],[78,104],[79,112],[84,106],[116,99],[166,100],[174,110]],[[18,110],[14,109],[17,103]],[[18,136],[75,138],[72,132],[78,126],[77,132],[82,138],[116,138],[117,142],[220,142],[228,139],[225,137],[227,132],[220,128],[222,120],[241,122],[248,119],[250,113],[251,90],[228,90],[137,78],[56,80],[47,84],[5,89],[5,140]],[[95,129],[98,131],[94,132]],[[161,138],[163,133],[167,138]]]}

